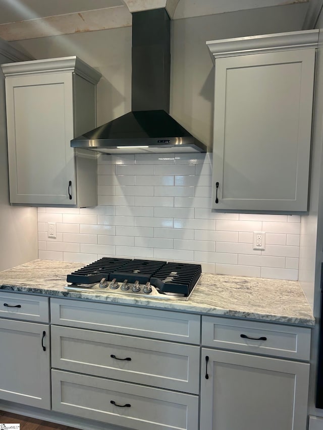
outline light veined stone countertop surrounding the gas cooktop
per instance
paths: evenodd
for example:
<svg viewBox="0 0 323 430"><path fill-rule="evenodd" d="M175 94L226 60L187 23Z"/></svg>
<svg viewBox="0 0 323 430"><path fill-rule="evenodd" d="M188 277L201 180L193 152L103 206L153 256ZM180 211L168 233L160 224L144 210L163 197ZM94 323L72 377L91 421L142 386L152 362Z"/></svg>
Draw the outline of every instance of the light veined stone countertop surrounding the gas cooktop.
<svg viewBox="0 0 323 430"><path fill-rule="evenodd" d="M0 272L0 289L146 306L149 308L313 326L314 317L297 281L203 273L188 301L138 298L105 291L64 289L66 276L85 264L34 260Z"/></svg>

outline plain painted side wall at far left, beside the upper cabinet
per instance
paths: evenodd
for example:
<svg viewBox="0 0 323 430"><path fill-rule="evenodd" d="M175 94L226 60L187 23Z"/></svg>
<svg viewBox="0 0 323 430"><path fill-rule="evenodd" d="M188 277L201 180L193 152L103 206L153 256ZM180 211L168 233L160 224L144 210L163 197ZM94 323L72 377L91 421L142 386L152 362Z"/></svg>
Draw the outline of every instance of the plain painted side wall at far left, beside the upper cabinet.
<svg viewBox="0 0 323 430"><path fill-rule="evenodd" d="M0 64L10 63L0 54ZM0 270L38 257L37 210L9 205L5 78L0 69Z"/></svg>

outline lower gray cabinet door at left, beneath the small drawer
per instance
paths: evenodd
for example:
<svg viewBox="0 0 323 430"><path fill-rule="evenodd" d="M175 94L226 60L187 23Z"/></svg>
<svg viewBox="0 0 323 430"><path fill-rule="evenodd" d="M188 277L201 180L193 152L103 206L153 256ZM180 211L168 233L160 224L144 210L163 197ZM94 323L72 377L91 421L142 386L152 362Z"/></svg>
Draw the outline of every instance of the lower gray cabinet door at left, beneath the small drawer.
<svg viewBox="0 0 323 430"><path fill-rule="evenodd" d="M50 409L48 326L0 320L0 345L0 398Z"/></svg>

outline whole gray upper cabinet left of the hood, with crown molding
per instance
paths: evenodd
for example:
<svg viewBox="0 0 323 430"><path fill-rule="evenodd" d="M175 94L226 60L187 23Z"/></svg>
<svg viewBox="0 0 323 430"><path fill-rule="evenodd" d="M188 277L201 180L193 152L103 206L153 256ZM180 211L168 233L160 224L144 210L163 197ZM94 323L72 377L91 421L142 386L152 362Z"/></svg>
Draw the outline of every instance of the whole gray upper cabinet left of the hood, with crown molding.
<svg viewBox="0 0 323 430"><path fill-rule="evenodd" d="M76 56L2 65L10 202L95 206L96 155L70 141L96 125L100 74Z"/></svg>

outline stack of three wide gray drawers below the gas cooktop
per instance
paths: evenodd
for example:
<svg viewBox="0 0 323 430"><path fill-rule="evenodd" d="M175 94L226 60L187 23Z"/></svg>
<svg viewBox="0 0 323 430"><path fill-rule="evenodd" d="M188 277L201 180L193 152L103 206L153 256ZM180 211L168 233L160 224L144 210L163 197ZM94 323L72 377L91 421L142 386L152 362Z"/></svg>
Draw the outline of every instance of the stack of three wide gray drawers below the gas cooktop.
<svg viewBox="0 0 323 430"><path fill-rule="evenodd" d="M134 430L197 430L200 317L138 311L51 300L52 409Z"/></svg>

